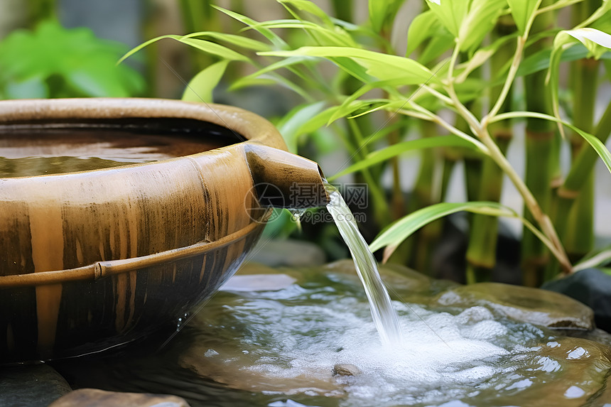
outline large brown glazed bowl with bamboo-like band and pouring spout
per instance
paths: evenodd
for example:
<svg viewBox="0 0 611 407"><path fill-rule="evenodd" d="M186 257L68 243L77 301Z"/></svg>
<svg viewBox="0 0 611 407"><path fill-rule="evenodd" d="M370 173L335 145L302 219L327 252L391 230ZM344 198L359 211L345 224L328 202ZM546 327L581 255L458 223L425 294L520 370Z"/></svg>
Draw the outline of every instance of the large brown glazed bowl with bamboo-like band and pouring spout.
<svg viewBox="0 0 611 407"><path fill-rule="evenodd" d="M318 165L283 151L274 126L242 109L0 102L0 157L141 151L145 133L195 147L183 155L166 142L175 158L0 178L0 362L97 352L175 326L237 270L269 206L328 201ZM300 186L308 199L293 196Z"/></svg>

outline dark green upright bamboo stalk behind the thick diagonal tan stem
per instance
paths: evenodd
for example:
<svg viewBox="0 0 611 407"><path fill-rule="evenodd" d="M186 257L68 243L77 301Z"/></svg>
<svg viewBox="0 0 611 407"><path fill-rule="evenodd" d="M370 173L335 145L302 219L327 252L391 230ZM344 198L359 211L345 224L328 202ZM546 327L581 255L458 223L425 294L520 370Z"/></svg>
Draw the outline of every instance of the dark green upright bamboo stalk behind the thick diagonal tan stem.
<svg viewBox="0 0 611 407"><path fill-rule="evenodd" d="M551 1L544 1L547 6ZM552 26L553 13L545 13L534 21L531 35L544 31ZM528 48L528 55L544 48L551 48L551 38L544 38ZM536 72L524 77L526 109L553 115L549 92L545 86L546 72ZM553 156L556 126L542 119L526 121L526 186L531 190L543 212L551 210L551 183L554 176L556 159ZM534 216L524 207L524 217L534 222ZM543 243L529 229L524 227L521 244L522 283L525 286L537 287L544 281L545 267L549 253Z"/></svg>

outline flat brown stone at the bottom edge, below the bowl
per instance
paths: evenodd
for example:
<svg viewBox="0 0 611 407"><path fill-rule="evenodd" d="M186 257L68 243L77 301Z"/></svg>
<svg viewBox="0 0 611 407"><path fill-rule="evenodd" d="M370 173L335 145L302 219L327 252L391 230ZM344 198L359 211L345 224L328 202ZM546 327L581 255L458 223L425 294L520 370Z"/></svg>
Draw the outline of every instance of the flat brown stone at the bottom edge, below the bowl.
<svg viewBox="0 0 611 407"><path fill-rule="evenodd" d="M49 407L189 407L178 396L145 393L118 393L99 389L79 389L66 394Z"/></svg>

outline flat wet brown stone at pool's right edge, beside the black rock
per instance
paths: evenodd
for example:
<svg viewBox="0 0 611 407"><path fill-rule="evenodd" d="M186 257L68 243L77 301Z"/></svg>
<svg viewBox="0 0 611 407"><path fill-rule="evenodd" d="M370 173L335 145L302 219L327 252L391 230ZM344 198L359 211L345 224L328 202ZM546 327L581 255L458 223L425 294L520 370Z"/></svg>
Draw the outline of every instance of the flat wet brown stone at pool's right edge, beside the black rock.
<svg viewBox="0 0 611 407"><path fill-rule="evenodd" d="M436 302L461 308L484 305L504 317L544 327L594 328L594 314L588 306L566 295L538 288L477 283L445 291L438 295Z"/></svg>

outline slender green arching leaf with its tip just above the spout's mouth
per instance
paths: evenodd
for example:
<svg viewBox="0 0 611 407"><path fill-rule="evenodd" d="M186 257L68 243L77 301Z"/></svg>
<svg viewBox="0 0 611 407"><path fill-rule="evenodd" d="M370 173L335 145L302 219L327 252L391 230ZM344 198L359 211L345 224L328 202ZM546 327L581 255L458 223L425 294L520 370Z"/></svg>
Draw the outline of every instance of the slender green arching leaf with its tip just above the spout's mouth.
<svg viewBox="0 0 611 407"><path fill-rule="evenodd" d="M406 153L407 151L422 150L423 148L433 147L464 147L477 150L476 146L474 146L472 143L469 143L468 141L453 135L428 137L426 139L404 141L402 143L396 143L392 146L382 148L382 150L369 153L367 157L363 158L362 160L353 165L350 165L350 167L340 171L339 173L333 175L328 179L332 181L336 178L340 178L342 175L355 173L364 168L369 168L372 165L387 161L389 160L389 158L399 156L400 154Z"/></svg>

